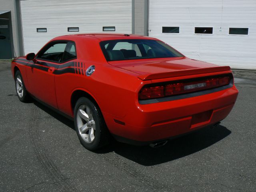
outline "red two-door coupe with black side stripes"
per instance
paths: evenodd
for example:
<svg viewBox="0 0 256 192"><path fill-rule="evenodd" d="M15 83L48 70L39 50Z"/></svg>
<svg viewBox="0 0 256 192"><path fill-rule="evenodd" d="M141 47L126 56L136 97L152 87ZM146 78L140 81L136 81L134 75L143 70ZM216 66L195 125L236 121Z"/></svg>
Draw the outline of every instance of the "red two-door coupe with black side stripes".
<svg viewBox="0 0 256 192"><path fill-rule="evenodd" d="M82 145L110 135L131 144L219 124L238 90L230 67L189 59L164 42L128 34L56 37L12 62L20 101L29 96L74 120Z"/></svg>

